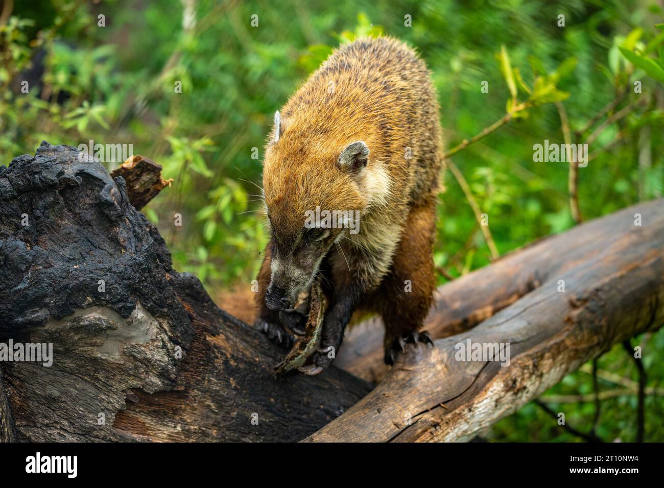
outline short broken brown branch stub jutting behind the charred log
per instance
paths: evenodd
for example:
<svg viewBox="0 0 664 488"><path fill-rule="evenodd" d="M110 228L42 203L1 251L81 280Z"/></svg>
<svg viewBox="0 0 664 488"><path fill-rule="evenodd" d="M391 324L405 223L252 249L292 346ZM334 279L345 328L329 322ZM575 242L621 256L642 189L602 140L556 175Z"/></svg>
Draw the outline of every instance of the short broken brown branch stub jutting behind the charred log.
<svg viewBox="0 0 664 488"><path fill-rule="evenodd" d="M131 156L114 169L111 176L124 178L129 202L137 210L147 205L162 189L171 186L173 181L161 177L161 165L141 155Z"/></svg>

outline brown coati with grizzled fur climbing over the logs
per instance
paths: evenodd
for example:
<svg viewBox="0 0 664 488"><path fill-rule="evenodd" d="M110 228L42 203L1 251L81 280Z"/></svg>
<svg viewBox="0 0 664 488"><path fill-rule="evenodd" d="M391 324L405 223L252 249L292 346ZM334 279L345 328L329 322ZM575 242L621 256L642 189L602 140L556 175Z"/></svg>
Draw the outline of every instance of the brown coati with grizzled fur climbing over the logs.
<svg viewBox="0 0 664 488"><path fill-rule="evenodd" d="M256 326L290 347L284 322L320 277L329 305L308 374L331 364L357 309L382 316L388 364L406 342L430 342L418 330L436 284L442 163L430 73L390 37L340 46L276 112L264 155L272 238L258 274ZM305 226L317 207L359 212L359 232Z"/></svg>

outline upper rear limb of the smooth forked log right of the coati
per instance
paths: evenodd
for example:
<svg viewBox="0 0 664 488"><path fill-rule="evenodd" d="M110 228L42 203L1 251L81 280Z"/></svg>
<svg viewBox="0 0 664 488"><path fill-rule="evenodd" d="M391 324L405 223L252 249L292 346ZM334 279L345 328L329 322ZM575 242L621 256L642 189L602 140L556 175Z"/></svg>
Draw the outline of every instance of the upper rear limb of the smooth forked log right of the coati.
<svg viewBox="0 0 664 488"><path fill-rule="evenodd" d="M649 220L643 220L643 226L635 226L635 214L645 218L644 208ZM653 226L656 230L662 214L662 200L635 205L505 254L491 266L439 287L425 329L436 339L467 331L544 283L555 282L569 270L598 258L609 244L627 242ZM640 244L661 249L663 237L655 234L651 242ZM388 370L382 361L382 333L380 319L369 319L353 327L335 365L369 381L379 381Z"/></svg>

